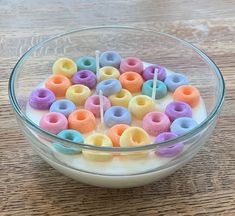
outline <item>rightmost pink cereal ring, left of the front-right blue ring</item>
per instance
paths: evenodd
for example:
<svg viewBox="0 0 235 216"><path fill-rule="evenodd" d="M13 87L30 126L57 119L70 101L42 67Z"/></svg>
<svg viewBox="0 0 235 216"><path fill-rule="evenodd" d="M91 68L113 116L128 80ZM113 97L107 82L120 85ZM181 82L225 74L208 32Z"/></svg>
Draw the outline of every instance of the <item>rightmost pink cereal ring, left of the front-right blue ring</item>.
<svg viewBox="0 0 235 216"><path fill-rule="evenodd" d="M151 136L169 131L171 122L165 113L150 112L143 118L143 129Z"/></svg>

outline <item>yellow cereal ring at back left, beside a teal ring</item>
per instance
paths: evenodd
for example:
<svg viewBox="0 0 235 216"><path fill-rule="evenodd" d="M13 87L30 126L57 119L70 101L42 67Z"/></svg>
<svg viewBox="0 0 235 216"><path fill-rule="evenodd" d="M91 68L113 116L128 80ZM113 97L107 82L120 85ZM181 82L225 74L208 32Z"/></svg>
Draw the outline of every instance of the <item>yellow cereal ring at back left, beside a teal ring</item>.
<svg viewBox="0 0 235 216"><path fill-rule="evenodd" d="M76 63L70 58L59 58L52 67L53 74L61 74L69 79L77 72Z"/></svg>

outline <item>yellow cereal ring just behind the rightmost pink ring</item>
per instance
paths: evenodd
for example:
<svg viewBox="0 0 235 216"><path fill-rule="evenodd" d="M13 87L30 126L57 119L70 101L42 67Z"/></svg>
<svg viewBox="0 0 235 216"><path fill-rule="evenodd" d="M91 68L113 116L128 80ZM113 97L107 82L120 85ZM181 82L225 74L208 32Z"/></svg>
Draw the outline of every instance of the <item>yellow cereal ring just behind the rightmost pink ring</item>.
<svg viewBox="0 0 235 216"><path fill-rule="evenodd" d="M135 118L142 120L147 113L154 111L155 102L146 95L137 95L130 100L128 109Z"/></svg>

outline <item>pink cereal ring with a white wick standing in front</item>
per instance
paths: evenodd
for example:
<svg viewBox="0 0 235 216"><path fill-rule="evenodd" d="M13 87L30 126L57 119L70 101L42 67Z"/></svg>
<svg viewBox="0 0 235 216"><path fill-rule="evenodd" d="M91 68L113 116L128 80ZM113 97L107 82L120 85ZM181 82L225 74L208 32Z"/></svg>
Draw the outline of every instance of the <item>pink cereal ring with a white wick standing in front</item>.
<svg viewBox="0 0 235 216"><path fill-rule="evenodd" d="M103 96L104 112L111 107L109 99ZM99 95L93 95L87 98L85 102L85 109L91 111L95 117L100 117L100 98Z"/></svg>

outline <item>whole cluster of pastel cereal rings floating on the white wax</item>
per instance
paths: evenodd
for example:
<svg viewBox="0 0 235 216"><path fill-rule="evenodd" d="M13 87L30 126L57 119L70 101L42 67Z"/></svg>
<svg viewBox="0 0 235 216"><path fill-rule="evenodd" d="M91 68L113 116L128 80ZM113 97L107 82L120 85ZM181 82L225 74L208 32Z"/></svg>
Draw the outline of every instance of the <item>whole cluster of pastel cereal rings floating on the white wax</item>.
<svg viewBox="0 0 235 216"><path fill-rule="evenodd" d="M158 64L105 51L96 58L59 58L52 73L31 92L28 104L31 110L43 112L39 121L43 130L67 141L136 147L175 139L198 125L194 119L194 108L201 100L198 89L185 75ZM123 155L69 147L63 142L52 146L61 154L79 154L93 161ZM183 143L158 147L155 157L173 157L183 148Z"/></svg>

